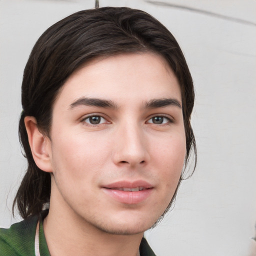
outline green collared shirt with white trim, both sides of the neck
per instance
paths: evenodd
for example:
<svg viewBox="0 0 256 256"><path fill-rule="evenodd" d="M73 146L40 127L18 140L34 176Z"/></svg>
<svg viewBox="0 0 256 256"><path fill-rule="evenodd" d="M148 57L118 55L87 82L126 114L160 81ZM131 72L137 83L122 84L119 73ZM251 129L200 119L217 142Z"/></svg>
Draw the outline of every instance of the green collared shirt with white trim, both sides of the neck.
<svg viewBox="0 0 256 256"><path fill-rule="evenodd" d="M47 215L42 211L39 215L38 232L36 226L38 216L29 216L26 219L12 224L9 228L0 228L0 255L1 256L50 256L43 232L42 220ZM35 242L38 234L38 242ZM35 253L38 245L39 253ZM155 256L145 238L139 245L140 256Z"/></svg>

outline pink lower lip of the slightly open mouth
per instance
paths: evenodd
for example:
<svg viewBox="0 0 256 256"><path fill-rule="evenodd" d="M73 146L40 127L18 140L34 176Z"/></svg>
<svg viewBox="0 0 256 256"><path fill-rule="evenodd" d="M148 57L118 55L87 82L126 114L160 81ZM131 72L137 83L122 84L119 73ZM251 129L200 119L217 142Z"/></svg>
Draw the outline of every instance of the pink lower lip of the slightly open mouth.
<svg viewBox="0 0 256 256"><path fill-rule="evenodd" d="M110 195L114 200L125 204L137 204L149 197L152 188L140 191L122 191L117 189L103 188L103 191Z"/></svg>

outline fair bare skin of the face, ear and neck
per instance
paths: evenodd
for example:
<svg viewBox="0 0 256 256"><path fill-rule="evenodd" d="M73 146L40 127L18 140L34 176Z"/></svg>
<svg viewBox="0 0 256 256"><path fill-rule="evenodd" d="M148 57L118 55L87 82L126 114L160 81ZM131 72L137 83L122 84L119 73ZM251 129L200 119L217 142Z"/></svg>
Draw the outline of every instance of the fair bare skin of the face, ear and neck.
<svg viewBox="0 0 256 256"><path fill-rule="evenodd" d="M162 57L119 54L94 59L67 79L53 104L50 138L25 117L34 160L51 172L43 223L51 255L137 254L143 232L173 196L185 157L181 107L148 106L166 98L181 106L178 81ZM150 192L120 202L105 187L123 180L145 181Z"/></svg>

